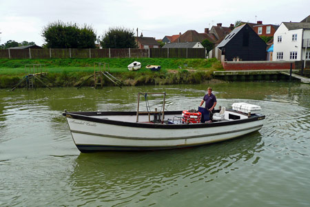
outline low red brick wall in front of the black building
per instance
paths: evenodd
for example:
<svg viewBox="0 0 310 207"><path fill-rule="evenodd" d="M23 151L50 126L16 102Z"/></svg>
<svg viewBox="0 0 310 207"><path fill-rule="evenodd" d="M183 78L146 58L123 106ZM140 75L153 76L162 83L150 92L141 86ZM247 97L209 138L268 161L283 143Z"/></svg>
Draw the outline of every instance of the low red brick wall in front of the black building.
<svg viewBox="0 0 310 207"><path fill-rule="evenodd" d="M225 70L289 70L295 69L293 61L225 61Z"/></svg>

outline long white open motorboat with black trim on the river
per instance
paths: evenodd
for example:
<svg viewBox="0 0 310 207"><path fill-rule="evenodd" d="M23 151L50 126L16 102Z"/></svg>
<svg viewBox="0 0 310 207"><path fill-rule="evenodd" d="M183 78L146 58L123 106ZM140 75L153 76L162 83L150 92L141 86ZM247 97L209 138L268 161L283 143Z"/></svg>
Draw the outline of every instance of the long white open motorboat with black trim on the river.
<svg viewBox="0 0 310 207"><path fill-rule="evenodd" d="M139 110L141 96L163 95L161 110ZM165 92L138 93L137 111L68 112L66 117L74 144L81 152L105 150L162 150L200 146L233 139L260 130L265 115L260 106L234 103L216 110L213 121L205 108L165 111ZM185 120L185 114L198 122ZM198 115L202 117L198 117ZM218 117L218 118L216 118ZM215 119L216 118L216 119ZM187 119L188 120L188 119Z"/></svg>

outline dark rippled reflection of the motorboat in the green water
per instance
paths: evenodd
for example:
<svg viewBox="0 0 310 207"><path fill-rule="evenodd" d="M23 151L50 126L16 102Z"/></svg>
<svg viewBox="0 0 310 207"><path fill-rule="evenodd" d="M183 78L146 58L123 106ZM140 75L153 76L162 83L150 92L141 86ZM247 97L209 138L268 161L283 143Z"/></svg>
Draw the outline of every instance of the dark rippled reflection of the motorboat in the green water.
<svg viewBox="0 0 310 207"><path fill-rule="evenodd" d="M81 153L70 177L74 183L72 190L80 193L72 194L81 198L92 194L96 201L106 202L108 206L141 206L153 204L152 201L165 204L158 198L174 199L174 195L177 200L173 204L178 204L178 196L185 194L183 189L193 191L194 188L195 192L187 192L193 201L205 185L209 185L210 191L215 188L221 175L226 177L231 170L242 168L245 162L257 164L256 153L264 146L261 139L259 132L253 132L240 139L194 148ZM204 197L210 193L203 191L200 193L204 193ZM92 203L89 196L88 199Z"/></svg>

